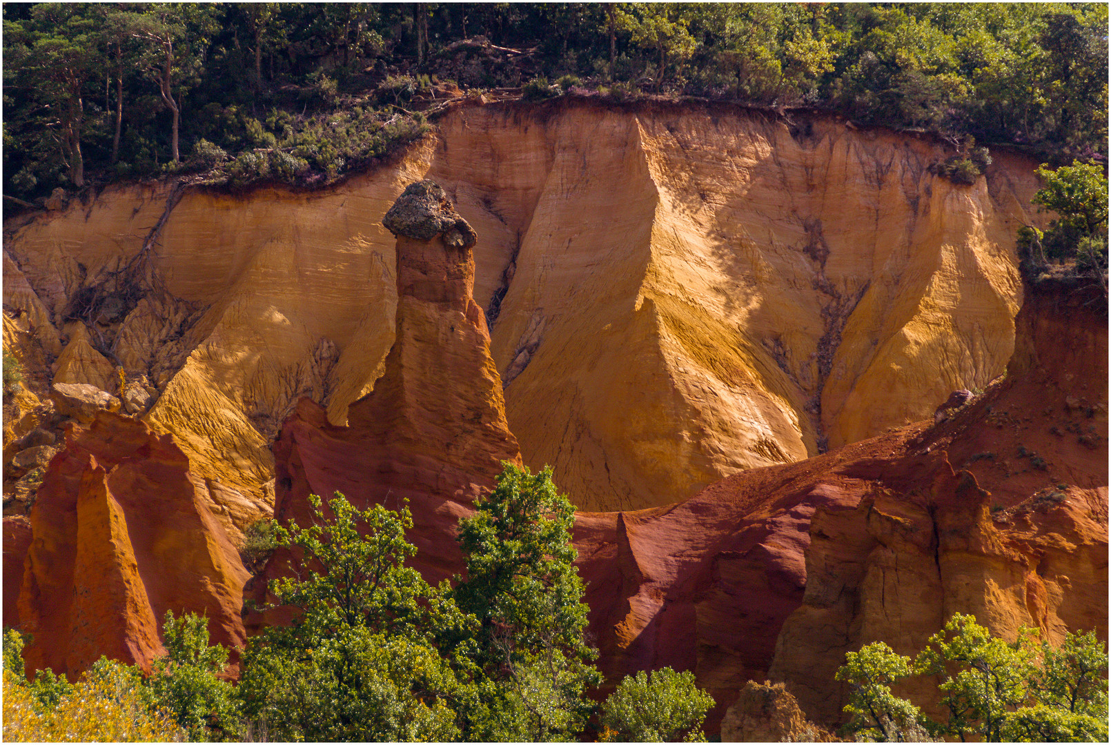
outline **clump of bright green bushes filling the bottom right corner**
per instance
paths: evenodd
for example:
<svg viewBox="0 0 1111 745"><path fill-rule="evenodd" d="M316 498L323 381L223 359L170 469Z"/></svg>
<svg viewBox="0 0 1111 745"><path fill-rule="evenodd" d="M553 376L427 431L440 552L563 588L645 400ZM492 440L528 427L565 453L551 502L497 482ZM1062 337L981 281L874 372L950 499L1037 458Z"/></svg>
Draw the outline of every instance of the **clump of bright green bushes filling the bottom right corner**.
<svg viewBox="0 0 1111 745"><path fill-rule="evenodd" d="M1059 648L1023 626L1014 642L992 636L971 615L953 614L911 661L883 642L845 655L844 733L868 742L911 742L922 733L981 742L1107 742L1108 657L1093 632L1067 634ZM912 675L940 679L944 722L934 722L891 686Z"/></svg>

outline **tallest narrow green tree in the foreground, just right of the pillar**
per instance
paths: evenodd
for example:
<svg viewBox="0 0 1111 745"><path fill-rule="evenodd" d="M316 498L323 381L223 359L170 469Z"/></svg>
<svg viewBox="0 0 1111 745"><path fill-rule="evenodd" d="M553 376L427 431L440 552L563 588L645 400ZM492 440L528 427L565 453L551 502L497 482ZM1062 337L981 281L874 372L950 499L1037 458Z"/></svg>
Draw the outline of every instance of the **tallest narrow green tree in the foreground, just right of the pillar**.
<svg viewBox="0 0 1111 745"><path fill-rule="evenodd" d="M574 509L556 491L551 469L533 474L503 463L494 491L460 521L466 578L452 593L478 618L474 661L494 708L512 716L479 717L482 739L573 737L601 681L585 642L583 587L570 545Z"/></svg>

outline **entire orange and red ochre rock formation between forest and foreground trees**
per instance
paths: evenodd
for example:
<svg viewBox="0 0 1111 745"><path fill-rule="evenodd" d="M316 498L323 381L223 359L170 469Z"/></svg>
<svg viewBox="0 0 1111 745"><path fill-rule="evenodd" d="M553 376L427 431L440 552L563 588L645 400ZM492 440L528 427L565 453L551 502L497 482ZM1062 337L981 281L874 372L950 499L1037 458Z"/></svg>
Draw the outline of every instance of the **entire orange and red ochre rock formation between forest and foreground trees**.
<svg viewBox="0 0 1111 745"><path fill-rule="evenodd" d="M578 513L591 633L609 685L693 670L719 704L710 734L768 677L834 724L845 651L911 654L957 611L1004 635L1107 638L1107 319L1082 288L1019 283L1029 164L1004 155L965 188L929 174L932 145L829 121L551 113L466 109L434 148L334 193L182 199L150 256L168 294L96 320L180 449L101 413L51 462L30 526L6 519L6 577L23 576L6 616L54 635L29 666L147 662L167 608L241 643L246 573L224 534L264 512L263 433L301 395L321 403L301 399L273 444L276 515L304 521L309 493L409 500L431 581L462 568L458 520L502 460L554 462L580 506L662 505ZM447 193L414 184L388 217L427 173ZM163 209L132 213L122 193L6 241L6 305L43 354L67 342L72 380L104 370L89 330L61 323L77 262L106 276L130 255L123 239L71 249L74 231L114 236ZM987 392L883 431L961 385ZM819 432L880 434L803 460ZM262 601L289 558L247 594Z"/></svg>

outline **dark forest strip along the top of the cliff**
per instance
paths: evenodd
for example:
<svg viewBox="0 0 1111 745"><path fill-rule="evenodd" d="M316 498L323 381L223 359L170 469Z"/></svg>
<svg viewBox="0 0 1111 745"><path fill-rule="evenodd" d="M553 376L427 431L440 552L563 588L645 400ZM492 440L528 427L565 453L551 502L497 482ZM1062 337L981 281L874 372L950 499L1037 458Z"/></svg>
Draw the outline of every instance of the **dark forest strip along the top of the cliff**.
<svg viewBox="0 0 1111 745"><path fill-rule="evenodd" d="M8 202L182 170L328 183L464 90L813 107L1105 161L1105 4L8 3ZM557 80L549 85L547 80ZM442 81L433 87L433 81ZM437 90L439 92L437 92ZM458 93L456 93L458 94ZM971 153L941 168L974 178Z"/></svg>

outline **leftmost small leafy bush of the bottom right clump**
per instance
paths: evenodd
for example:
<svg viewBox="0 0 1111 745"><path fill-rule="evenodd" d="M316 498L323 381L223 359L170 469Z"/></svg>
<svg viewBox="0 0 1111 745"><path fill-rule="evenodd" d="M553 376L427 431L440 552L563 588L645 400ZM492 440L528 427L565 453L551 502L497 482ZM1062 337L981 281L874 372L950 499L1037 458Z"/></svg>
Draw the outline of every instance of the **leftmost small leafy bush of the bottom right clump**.
<svg viewBox="0 0 1111 745"><path fill-rule="evenodd" d="M914 731L915 725L924 727L922 712L891 693L891 686L911 672L910 657L895 654L883 642L845 654L845 663L835 675L849 684L844 711L850 718L844 732L868 742L904 742L903 733Z"/></svg>

